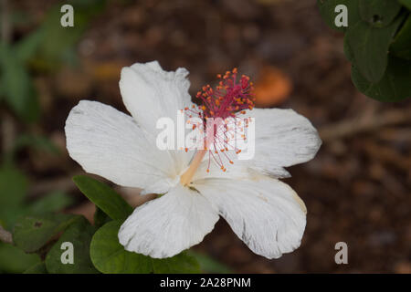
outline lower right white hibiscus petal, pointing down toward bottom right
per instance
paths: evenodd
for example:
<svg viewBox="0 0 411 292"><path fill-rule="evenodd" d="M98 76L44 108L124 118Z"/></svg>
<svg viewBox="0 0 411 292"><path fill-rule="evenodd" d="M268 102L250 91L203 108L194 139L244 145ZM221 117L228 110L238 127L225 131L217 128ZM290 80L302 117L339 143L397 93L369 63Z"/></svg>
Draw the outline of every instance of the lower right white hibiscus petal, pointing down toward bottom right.
<svg viewBox="0 0 411 292"><path fill-rule="evenodd" d="M300 246L306 210L289 185L266 176L255 181L211 179L193 186L254 253L278 258Z"/></svg>

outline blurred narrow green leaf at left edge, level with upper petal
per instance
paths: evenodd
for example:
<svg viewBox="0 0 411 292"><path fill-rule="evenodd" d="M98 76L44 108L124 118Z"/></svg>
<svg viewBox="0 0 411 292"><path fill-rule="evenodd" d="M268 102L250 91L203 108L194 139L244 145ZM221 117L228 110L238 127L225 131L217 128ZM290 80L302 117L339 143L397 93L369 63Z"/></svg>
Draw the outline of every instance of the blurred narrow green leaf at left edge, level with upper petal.
<svg viewBox="0 0 411 292"><path fill-rule="evenodd" d="M0 69L5 101L27 122L39 115L37 93L24 63L11 47L0 44Z"/></svg>

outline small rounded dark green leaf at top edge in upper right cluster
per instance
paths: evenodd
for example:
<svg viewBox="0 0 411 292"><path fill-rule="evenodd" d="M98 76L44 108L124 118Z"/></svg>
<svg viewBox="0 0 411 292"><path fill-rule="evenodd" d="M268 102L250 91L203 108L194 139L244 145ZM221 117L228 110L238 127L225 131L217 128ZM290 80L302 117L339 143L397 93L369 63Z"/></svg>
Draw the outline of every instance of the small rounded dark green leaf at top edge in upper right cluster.
<svg viewBox="0 0 411 292"><path fill-rule="evenodd" d="M360 16L374 27L391 24L401 10L401 5L393 0L359 0Z"/></svg>

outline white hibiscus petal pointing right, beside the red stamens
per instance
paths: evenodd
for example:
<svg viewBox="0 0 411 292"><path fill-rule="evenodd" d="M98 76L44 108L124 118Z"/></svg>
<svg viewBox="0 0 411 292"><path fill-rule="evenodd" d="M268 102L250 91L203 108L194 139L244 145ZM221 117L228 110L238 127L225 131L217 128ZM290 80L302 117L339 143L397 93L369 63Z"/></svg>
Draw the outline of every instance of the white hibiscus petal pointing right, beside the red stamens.
<svg viewBox="0 0 411 292"><path fill-rule="evenodd" d="M253 117L255 123L255 154L249 160L238 160L235 151L225 151L219 155L227 172L208 154L195 172L194 180L209 178L244 179L257 175L256 172L269 174L275 178L290 177L283 167L310 161L321 146L321 139L310 120L293 110L254 109L248 110L244 117ZM252 144L252 143L251 143ZM246 150L248 151L248 150ZM229 158L225 156L228 155ZM220 159L217 158L220 162ZM229 160L234 164L230 164ZM210 172L206 172L209 168Z"/></svg>

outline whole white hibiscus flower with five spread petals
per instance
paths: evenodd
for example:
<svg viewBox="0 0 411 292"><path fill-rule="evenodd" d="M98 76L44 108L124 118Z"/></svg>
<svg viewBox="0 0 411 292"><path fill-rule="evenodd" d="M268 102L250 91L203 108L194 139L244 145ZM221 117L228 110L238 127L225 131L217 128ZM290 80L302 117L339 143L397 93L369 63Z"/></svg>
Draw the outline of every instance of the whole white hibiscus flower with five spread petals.
<svg viewBox="0 0 411 292"><path fill-rule="evenodd" d="M157 62L122 68L121 96L132 116L89 100L68 115L68 152L86 172L163 194L122 224L121 245L155 258L177 255L200 243L222 216L254 253L268 258L290 253L300 246L306 209L278 179L290 176L283 167L314 157L321 145L317 130L293 110L246 110L255 118L252 160L209 166L205 151L160 151L157 120L175 119L177 110L194 106L187 75L184 68L163 71ZM212 111L201 108L203 117Z"/></svg>

